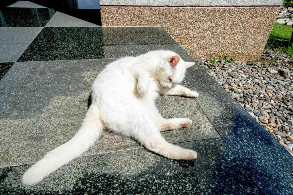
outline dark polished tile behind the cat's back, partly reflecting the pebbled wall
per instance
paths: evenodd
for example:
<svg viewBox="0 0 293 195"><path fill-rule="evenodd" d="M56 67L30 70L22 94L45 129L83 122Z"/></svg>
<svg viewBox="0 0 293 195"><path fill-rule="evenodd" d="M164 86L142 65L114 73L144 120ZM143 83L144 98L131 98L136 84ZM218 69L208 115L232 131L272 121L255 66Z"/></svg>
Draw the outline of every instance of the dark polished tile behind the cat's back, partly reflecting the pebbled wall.
<svg viewBox="0 0 293 195"><path fill-rule="evenodd" d="M161 27L45 27L18 61L119 58L174 43Z"/></svg>

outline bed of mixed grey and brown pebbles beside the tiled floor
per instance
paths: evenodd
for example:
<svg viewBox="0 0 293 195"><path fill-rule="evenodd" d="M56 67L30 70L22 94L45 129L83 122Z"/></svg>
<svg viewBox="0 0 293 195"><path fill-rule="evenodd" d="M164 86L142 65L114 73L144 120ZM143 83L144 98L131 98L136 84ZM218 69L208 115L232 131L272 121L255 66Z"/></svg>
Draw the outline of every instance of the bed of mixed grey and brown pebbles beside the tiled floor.
<svg viewBox="0 0 293 195"><path fill-rule="evenodd" d="M257 61L198 63L293 156L293 59L266 49Z"/></svg>

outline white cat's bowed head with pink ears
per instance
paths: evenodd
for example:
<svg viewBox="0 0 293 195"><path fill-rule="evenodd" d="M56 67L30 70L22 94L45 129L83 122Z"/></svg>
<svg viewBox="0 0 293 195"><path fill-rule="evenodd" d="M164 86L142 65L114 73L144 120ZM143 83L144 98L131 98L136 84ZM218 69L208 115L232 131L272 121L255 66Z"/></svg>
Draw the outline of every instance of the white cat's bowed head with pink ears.
<svg viewBox="0 0 293 195"><path fill-rule="evenodd" d="M173 51L159 51L156 79L162 87L171 88L174 84L182 82L185 70L193 66L194 62L185 62Z"/></svg>

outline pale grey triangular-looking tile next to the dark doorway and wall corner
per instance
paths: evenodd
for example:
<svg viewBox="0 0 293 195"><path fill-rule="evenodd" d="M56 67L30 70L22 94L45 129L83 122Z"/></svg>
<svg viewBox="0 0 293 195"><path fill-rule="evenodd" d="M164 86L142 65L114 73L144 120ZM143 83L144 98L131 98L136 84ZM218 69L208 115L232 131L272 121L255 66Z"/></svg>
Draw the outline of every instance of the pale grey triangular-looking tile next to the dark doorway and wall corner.
<svg viewBox="0 0 293 195"><path fill-rule="evenodd" d="M99 25L57 11L45 27L99 27Z"/></svg>

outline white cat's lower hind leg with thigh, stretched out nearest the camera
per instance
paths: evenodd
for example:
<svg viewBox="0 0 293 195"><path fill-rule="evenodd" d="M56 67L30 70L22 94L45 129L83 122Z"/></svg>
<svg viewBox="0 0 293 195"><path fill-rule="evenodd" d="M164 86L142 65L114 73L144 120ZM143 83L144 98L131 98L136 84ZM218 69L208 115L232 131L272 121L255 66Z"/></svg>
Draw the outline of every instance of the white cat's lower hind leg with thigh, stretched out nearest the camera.
<svg viewBox="0 0 293 195"><path fill-rule="evenodd" d="M142 107L133 104L135 104L135 102L123 105L123 109L131 113L131 117L129 117L129 115L123 117L123 115L118 114L120 112L117 112L117 117L113 117L113 113L111 113L109 117L106 117L103 120L108 124L115 124L109 124L113 127L115 132L126 137L132 137L146 149L159 155L177 160L193 160L197 157L197 153L193 150L183 149L179 146L168 143L162 137L161 132L150 113L146 112ZM120 110L117 106L115 109L115 112L117 109Z"/></svg>

